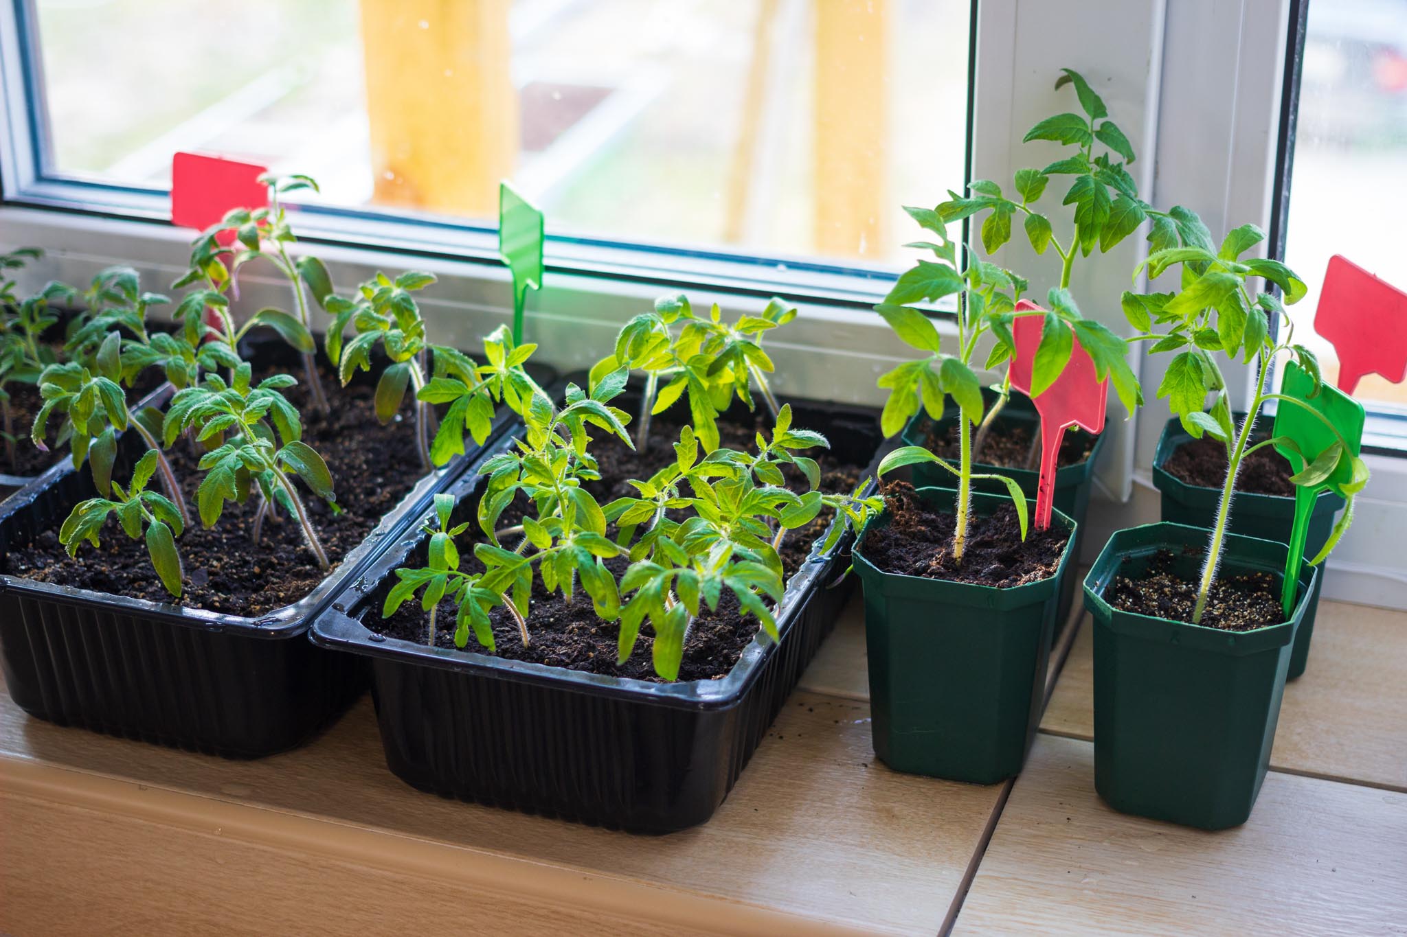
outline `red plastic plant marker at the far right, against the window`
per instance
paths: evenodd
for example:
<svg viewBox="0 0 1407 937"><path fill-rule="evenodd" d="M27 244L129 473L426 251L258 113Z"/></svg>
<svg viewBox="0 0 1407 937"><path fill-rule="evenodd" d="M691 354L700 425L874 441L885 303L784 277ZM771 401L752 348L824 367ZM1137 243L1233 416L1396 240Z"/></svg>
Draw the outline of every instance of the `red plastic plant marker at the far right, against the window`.
<svg viewBox="0 0 1407 937"><path fill-rule="evenodd" d="M1393 384L1407 376L1407 294L1339 254L1328 258L1314 330L1338 353L1344 393L1365 374Z"/></svg>

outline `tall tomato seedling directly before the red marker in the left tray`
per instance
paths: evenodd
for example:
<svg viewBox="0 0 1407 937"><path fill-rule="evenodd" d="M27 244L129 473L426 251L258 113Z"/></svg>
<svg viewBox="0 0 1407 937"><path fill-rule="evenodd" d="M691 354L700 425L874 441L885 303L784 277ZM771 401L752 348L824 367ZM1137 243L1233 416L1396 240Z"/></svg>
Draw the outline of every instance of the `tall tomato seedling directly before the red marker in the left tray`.
<svg viewBox="0 0 1407 937"><path fill-rule="evenodd" d="M317 257L303 257L294 261L288 244L297 239L288 222L287 207L281 197L287 192L311 188L318 184L307 176L263 176L260 181L269 187L270 202L262 208L232 209L210 230L203 232L193 243L189 270L173 284L177 289L200 284L203 289L186 296L186 302L204 301L217 315L219 326L211 325L211 337L231 344L238 351L238 340L255 326L269 326L284 341L303 355L303 379L314 410L331 412L322 379L318 375L315 358L317 346L312 340L311 316L308 313L307 289L319 303L332 292L332 280L326 267ZM224 246L219 236L235 235L235 246ZM229 317L227 294L238 295L238 277L245 264L266 260L288 280L293 288L294 312L266 306L250 316L238 332ZM222 301L222 302L221 302Z"/></svg>

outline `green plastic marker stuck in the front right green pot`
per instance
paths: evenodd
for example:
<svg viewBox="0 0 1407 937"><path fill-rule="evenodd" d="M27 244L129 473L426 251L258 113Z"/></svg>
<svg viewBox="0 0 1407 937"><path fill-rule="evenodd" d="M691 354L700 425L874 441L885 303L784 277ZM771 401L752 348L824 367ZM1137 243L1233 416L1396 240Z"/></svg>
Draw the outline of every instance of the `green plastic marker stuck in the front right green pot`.
<svg viewBox="0 0 1407 937"><path fill-rule="evenodd" d="M1289 461L1296 473L1304 471L1306 459L1313 461L1314 457L1338 443L1339 435L1348 443L1349 450L1339 455L1338 465L1323 483L1294 486L1294 525L1290 528L1290 552L1285 563L1285 582L1280 593L1280 603L1285 614L1289 615L1294 610L1294 586L1300 580L1300 566L1304 563L1304 539L1309 532L1310 514L1314 511L1314 499L1325 487L1345 494L1342 485L1354 480L1351 457L1356 457L1362 447L1363 405L1327 384L1320 385L1318 393L1314 393L1314 378L1293 361L1285 365L1280 393L1303 400L1331 424L1325 426L1324 420L1303 407L1280 400L1275 410L1273 435L1294 440L1299 451L1280 443L1276 443L1275 448ZM1335 428L1338 434L1334 433Z"/></svg>

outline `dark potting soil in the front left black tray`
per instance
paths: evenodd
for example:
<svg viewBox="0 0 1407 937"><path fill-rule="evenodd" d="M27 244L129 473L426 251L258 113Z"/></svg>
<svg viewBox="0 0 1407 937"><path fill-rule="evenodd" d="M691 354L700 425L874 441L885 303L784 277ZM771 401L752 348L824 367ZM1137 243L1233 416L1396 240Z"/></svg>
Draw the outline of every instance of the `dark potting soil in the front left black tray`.
<svg viewBox="0 0 1407 937"><path fill-rule="evenodd" d="M415 486L424 471L415 457L409 398L398 417L381 426L374 413L374 385L339 388L336 376L325 368L322 384L332 403L326 417L305 405L301 385L286 393L303 412L304 441L326 459L332 472L342 513L333 513L305 489L301 493L322 549L336 566ZM167 458L186 492L193 520L177 541L186 582L180 604L253 617L298 601L328 575L318 569L298 523L281 513L279 523L266 520L260 542L252 542L257 499L243 506L227 503L215 527L204 530L196 514L196 489L201 480L196 468L198 455L189 443L177 440L167 450ZM298 485L301 487L301 482ZM160 490L159 480L153 478L151 487ZM73 559L59 544L58 530L63 520L55 518L53 527L39 532L31 544L11 545L4 572L134 598L173 601L152 570L145 544L129 539L115 517L103 528L101 546L94 549L84 544Z"/></svg>

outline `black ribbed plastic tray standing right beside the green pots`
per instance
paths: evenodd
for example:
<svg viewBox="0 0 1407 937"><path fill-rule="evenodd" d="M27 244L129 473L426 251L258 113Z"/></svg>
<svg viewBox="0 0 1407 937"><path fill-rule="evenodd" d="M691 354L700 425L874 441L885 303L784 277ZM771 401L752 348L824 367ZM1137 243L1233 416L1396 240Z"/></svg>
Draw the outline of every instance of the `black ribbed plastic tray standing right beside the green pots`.
<svg viewBox="0 0 1407 937"><path fill-rule="evenodd" d="M875 412L791 403L795 426L826 433L834 451L868 462L874 475L882 447ZM470 472L450 486L469 499L459 510L473 506L483 483ZM373 634L360 620L378 612L391 570L414 551L424 556L424 534L411 530L310 632L324 648L370 657L391 771L442 797L633 833L712 816L854 586L853 577L834 584L848 565L848 538L827 555L813 549L777 610L779 645L758 632L726 677L658 684Z"/></svg>

